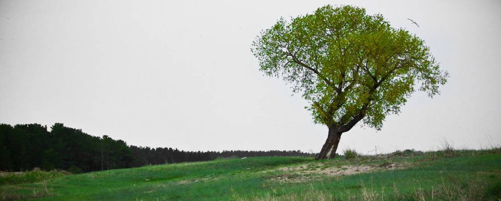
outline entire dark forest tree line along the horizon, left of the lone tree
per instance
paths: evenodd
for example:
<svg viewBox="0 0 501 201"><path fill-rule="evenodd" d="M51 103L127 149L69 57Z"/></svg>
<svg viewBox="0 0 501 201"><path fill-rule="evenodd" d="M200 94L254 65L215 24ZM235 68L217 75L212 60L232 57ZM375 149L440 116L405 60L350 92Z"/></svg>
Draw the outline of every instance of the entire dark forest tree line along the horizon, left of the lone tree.
<svg viewBox="0 0 501 201"><path fill-rule="evenodd" d="M89 172L144 165L207 161L253 156L309 156L301 151L183 151L173 148L128 146L109 136L92 136L81 129L56 123L0 124L0 170L23 171L39 167Z"/></svg>

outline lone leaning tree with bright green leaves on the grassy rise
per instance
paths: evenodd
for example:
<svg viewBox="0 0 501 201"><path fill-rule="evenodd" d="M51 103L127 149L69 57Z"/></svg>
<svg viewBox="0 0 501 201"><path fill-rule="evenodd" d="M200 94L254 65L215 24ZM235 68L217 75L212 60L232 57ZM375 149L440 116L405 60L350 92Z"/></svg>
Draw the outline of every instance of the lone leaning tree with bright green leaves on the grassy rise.
<svg viewBox="0 0 501 201"><path fill-rule="evenodd" d="M328 127L317 159L334 157L341 135L358 122L380 130L416 85L432 97L448 77L423 40L352 6L281 18L252 46L260 70L292 84L311 104L314 122Z"/></svg>

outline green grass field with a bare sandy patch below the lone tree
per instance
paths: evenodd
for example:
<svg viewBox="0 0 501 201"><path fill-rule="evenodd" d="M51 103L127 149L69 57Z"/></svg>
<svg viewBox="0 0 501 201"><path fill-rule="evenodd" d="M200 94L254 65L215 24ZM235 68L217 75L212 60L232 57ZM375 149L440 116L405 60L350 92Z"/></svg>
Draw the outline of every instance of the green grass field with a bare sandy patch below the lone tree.
<svg viewBox="0 0 501 201"><path fill-rule="evenodd" d="M66 175L2 173L1 199L501 200L501 150L256 157ZM14 174L14 175L13 175ZM33 176L39 175L39 176Z"/></svg>

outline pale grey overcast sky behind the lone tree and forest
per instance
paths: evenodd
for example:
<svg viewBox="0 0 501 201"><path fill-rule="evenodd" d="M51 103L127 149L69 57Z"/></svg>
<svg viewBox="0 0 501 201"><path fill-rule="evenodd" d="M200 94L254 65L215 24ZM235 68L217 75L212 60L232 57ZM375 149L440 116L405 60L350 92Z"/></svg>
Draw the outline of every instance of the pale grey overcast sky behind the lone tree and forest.
<svg viewBox="0 0 501 201"><path fill-rule="evenodd" d="M0 0L0 123L189 151L319 152L327 127L250 48L280 17L328 4L382 14L450 73L441 95L417 91L380 131L343 134L339 153L501 144L500 1Z"/></svg>

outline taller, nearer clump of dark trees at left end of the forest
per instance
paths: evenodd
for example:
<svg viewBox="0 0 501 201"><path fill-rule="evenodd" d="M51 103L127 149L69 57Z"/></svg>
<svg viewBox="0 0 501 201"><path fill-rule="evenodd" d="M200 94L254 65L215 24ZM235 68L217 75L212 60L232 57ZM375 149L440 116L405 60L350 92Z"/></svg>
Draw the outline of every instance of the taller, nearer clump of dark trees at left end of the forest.
<svg viewBox="0 0 501 201"><path fill-rule="evenodd" d="M0 124L0 170L69 169L88 172L131 166L132 154L122 140L96 137L56 123Z"/></svg>

